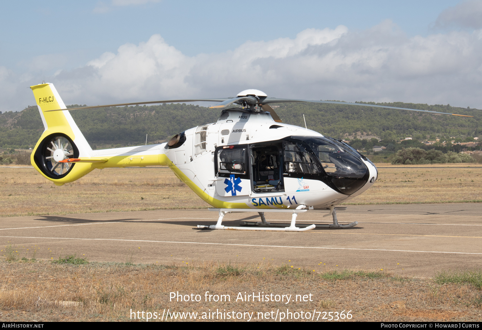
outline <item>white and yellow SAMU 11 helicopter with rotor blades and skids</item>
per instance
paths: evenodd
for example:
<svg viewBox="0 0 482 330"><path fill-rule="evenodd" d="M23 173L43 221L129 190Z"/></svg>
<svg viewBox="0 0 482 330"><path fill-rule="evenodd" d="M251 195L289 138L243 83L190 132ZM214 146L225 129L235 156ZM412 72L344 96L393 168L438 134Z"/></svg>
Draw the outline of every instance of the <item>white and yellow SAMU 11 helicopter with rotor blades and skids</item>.
<svg viewBox="0 0 482 330"><path fill-rule="evenodd" d="M458 115L363 103L274 98L256 89L227 98L67 109L52 83L42 82L30 88L45 127L32 151L31 164L43 177L60 186L96 168L169 166L177 178L214 207L209 210L219 213L215 225L198 225L199 229L304 232L358 224L338 223L336 210L346 207L337 205L375 183L375 165L343 140L282 123L270 104L315 102ZM221 110L216 123L187 129L161 144L103 150L92 150L69 113L77 109L202 101L216 102L209 107ZM299 213L315 209L329 210L323 217L331 215L333 223L296 226ZM222 225L230 212L257 212L261 221L245 221L238 227ZM290 225L266 221L265 213L270 212L291 213Z"/></svg>

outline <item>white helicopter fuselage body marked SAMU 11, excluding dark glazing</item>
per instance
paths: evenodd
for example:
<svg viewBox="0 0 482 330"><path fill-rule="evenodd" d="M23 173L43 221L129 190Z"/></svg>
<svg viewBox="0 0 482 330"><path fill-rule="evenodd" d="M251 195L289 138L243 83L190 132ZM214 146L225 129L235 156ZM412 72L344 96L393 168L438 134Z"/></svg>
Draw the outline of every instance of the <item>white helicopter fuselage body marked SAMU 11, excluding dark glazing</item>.
<svg viewBox="0 0 482 330"><path fill-rule="evenodd" d="M372 179L364 181L364 184L351 194L340 193L322 180L313 179L313 175L310 176L309 173L297 173L298 175L293 177L294 173L289 172L292 169L287 169L286 166L283 168L283 164L280 164L286 161L286 156L283 157L284 151L281 148L276 151L275 146L282 147L281 144L286 143L282 141L287 137L323 138L323 135L303 127L276 123L268 112L225 111L216 123L190 128L182 135L184 141L181 140L181 143L177 143L173 148L162 143L106 149L92 151L90 157L122 155L126 159L126 166L135 166L136 163L137 166L143 166L141 158L164 154L169 160L166 165L169 165L176 176L203 200L218 208L276 209L296 208L301 205L310 209L324 208L359 195L377 178L375 166L361 156L359 161L368 170L365 177ZM278 164L271 164L268 170L261 169L260 172L266 174L264 177L268 177L268 180L265 180L267 182L264 184L256 184L253 172L256 171L256 161L263 158L261 154L261 157L256 159L256 150L259 154L260 148L262 151L267 143L271 150L275 150L271 153L279 153ZM237 161L234 165L239 167L237 169L221 169L220 153L236 150L246 153L244 163ZM276 160L276 157L273 159ZM98 167L102 165L99 164ZM270 184L277 180L282 181L282 185L276 187Z"/></svg>

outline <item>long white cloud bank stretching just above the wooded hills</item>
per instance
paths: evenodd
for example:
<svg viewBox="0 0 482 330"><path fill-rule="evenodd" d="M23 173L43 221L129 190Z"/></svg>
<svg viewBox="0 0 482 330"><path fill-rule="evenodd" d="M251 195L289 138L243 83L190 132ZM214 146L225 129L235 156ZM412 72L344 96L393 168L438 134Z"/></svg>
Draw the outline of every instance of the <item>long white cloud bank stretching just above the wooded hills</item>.
<svg viewBox="0 0 482 330"><path fill-rule="evenodd" d="M187 56L153 35L82 68L57 71L50 82L67 104L224 97L256 88L281 98L450 103L482 109L481 36L476 30L407 38L384 21L364 31L344 26L306 29L294 39L246 41L233 51ZM12 73L7 75L12 83ZM6 82L2 77L0 87ZM7 96L3 108L18 104L14 94Z"/></svg>

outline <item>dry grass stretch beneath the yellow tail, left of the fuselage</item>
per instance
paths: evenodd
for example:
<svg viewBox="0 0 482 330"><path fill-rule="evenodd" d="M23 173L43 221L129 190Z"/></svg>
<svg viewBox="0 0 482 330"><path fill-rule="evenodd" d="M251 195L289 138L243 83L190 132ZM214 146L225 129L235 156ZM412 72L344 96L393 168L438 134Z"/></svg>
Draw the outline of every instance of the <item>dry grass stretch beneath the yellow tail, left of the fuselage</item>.
<svg viewBox="0 0 482 330"><path fill-rule="evenodd" d="M0 166L0 217L206 208L168 167L106 168L56 186L30 167Z"/></svg>

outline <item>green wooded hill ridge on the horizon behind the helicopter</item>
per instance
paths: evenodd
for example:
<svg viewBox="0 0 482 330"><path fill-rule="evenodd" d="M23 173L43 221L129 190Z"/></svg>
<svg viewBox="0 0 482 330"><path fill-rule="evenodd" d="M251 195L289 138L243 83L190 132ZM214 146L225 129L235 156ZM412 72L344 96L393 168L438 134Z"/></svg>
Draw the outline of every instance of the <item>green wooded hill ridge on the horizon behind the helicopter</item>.
<svg viewBox="0 0 482 330"><path fill-rule="evenodd" d="M404 137L413 137L415 140L450 137L465 139L482 134L479 128L482 127L481 110L402 102L376 104L474 117L316 103L286 103L275 110L283 123L298 126L305 125L304 114L308 128L334 138L358 137L392 141ZM148 143L159 142L190 127L215 122L219 111L186 104L162 104L75 110L71 114L85 138L93 147L100 148L144 144L146 134ZM31 148L42 131L43 125L36 106L0 114L2 149Z"/></svg>

